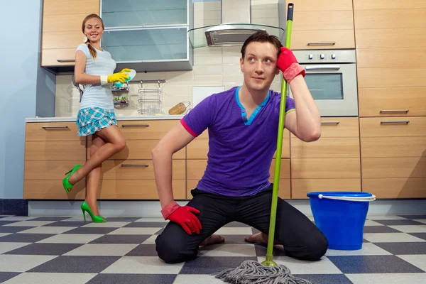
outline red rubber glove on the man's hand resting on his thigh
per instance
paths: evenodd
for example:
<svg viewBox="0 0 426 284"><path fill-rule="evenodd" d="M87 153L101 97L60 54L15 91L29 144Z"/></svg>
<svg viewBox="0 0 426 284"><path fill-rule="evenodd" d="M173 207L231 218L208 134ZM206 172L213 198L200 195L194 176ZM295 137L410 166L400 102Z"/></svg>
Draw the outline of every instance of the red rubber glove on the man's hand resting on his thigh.
<svg viewBox="0 0 426 284"><path fill-rule="evenodd" d="M198 214L200 211L194 207L180 206L175 201L165 205L163 210L161 210L161 214L163 214L165 220L180 224L187 234L190 235L193 232L200 234L200 229L202 229L200 220L194 213Z"/></svg>

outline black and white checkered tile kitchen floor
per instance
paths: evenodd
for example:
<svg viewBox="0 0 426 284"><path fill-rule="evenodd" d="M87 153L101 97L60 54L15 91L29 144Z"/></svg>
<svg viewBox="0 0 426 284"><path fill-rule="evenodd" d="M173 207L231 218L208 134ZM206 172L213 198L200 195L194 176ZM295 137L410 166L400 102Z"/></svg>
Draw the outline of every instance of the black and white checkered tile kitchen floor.
<svg viewBox="0 0 426 284"><path fill-rule="evenodd" d="M165 264L154 243L163 219L108 221L0 216L0 283L219 284L212 273L266 254L265 246L244 242L256 229L231 223L217 231L224 244L200 249L195 261ZM274 260L312 283L425 283L426 215L369 217L359 251L329 250L312 263L277 246Z"/></svg>

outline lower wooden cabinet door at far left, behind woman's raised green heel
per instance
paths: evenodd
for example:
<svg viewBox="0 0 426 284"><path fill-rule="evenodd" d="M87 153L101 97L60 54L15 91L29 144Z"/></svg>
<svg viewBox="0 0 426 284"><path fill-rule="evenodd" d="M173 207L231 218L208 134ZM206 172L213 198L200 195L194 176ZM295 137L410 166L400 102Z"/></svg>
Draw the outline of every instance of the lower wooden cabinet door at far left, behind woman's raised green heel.
<svg viewBox="0 0 426 284"><path fill-rule="evenodd" d="M86 160L86 138L77 136L74 122L26 124L23 198L29 200L84 200L86 179L67 194L65 173Z"/></svg>

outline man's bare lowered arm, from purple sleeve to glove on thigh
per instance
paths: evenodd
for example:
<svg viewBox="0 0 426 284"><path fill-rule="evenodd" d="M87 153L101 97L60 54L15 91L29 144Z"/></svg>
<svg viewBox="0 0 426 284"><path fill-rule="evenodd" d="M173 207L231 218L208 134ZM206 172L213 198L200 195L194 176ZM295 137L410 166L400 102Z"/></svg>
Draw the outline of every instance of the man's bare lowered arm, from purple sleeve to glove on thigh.
<svg viewBox="0 0 426 284"><path fill-rule="evenodd" d="M161 208L173 202L172 190L172 156L174 153L187 146L192 140L192 136L182 124L177 124L170 129L160 140L157 146L151 151L154 165L155 185L157 186L158 197Z"/></svg>

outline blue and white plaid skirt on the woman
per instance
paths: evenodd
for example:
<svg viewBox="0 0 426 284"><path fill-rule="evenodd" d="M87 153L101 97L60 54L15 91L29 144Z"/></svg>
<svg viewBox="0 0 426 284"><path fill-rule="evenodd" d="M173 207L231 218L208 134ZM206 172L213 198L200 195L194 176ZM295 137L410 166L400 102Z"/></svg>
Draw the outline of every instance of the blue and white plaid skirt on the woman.
<svg viewBox="0 0 426 284"><path fill-rule="evenodd" d="M78 126L78 136L88 136L105 127L117 125L117 120L113 109L87 107L78 111L75 124Z"/></svg>

